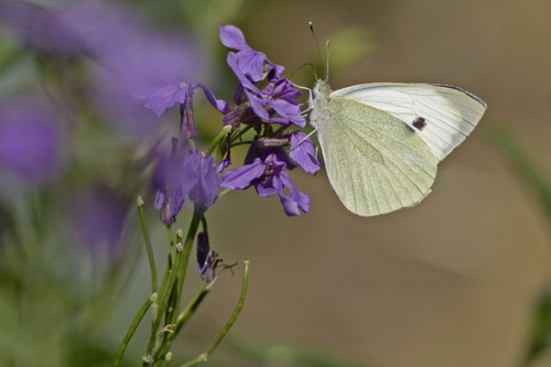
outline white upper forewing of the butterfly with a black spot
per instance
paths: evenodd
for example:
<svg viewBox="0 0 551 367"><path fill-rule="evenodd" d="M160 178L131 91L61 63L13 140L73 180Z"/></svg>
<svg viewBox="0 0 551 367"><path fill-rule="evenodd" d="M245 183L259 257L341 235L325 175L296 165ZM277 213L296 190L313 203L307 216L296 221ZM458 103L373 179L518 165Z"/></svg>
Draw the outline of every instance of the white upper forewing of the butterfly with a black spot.
<svg viewBox="0 0 551 367"><path fill-rule="evenodd" d="M349 98L399 118L419 132L439 161L465 140L486 110L480 98L442 84L363 84L335 90L331 97Z"/></svg>

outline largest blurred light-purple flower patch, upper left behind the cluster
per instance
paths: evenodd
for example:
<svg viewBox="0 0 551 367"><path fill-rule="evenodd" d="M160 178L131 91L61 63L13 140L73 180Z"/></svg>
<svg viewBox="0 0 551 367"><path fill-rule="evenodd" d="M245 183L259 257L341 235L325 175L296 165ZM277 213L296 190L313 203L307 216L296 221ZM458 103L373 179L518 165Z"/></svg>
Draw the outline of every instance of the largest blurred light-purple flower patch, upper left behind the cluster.
<svg viewBox="0 0 551 367"><path fill-rule="evenodd" d="M77 1L62 9L61 17L95 51L93 102L125 131L140 137L158 131L158 119L143 114L132 94L194 79L205 65L198 46L182 31L153 35L131 8Z"/></svg>

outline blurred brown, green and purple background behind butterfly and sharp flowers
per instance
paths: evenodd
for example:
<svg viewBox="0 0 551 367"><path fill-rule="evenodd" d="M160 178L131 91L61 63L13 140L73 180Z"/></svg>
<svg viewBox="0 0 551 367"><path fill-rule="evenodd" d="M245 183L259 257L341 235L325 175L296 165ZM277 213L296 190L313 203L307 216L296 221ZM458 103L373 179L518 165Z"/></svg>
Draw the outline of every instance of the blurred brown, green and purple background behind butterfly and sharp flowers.
<svg viewBox="0 0 551 367"><path fill-rule="evenodd" d="M251 272L209 365L551 366L550 14L548 1L0 2L0 366L109 365L149 294L134 201L145 199L162 263L149 161L177 115L156 118L130 94L201 80L230 99L218 23L312 86L300 68L321 71L309 21L323 55L331 40L334 89L445 83L488 110L414 208L356 217L324 172L291 173L311 196L300 217L252 191L224 196L207 213L210 246L226 263L250 259ZM207 142L222 122L204 101ZM231 314L235 272L179 336L176 363ZM190 278L188 298L199 284ZM145 322L128 366L148 332Z"/></svg>

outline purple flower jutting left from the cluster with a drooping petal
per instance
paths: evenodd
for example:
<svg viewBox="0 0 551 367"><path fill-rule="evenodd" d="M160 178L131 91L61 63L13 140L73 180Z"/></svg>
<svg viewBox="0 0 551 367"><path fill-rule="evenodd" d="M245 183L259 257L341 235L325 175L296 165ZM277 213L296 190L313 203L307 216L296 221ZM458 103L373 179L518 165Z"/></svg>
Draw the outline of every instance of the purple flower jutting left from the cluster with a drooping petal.
<svg viewBox="0 0 551 367"><path fill-rule="evenodd" d="M228 112L228 104L224 99L216 99L214 93L202 83L187 85L185 83L170 83L162 87L153 88L147 93L133 94L138 99L145 100L145 107L161 116L166 109L180 104L180 130L183 139L191 139L197 136L195 128L195 118L193 114L193 93L195 89L202 88L207 97L207 100L219 112Z"/></svg>

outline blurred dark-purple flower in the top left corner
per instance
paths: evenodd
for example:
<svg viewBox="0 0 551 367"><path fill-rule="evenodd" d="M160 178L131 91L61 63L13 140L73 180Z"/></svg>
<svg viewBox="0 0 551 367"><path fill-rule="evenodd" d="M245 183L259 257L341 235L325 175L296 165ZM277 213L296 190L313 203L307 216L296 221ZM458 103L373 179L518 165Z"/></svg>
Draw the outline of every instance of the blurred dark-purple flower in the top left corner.
<svg viewBox="0 0 551 367"><path fill-rule="evenodd" d="M89 53L87 44L54 10L25 1L2 1L0 25L6 26L26 46L54 54Z"/></svg>

